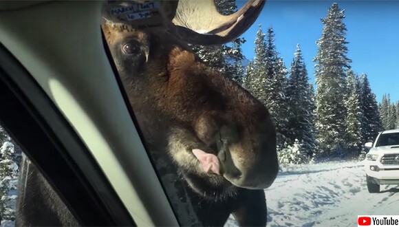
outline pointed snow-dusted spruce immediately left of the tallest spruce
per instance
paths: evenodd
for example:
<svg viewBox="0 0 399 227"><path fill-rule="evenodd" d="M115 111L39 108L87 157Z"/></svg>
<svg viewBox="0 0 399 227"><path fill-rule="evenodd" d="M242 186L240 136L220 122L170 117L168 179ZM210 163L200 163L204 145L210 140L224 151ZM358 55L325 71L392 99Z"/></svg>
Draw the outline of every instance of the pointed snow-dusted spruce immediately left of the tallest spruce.
<svg viewBox="0 0 399 227"><path fill-rule="evenodd" d="M294 60L291 63L288 78L288 144L297 139L302 142L302 149L311 157L314 153L316 140L314 138L314 99L312 85L308 83L308 71L301 52L296 45Z"/></svg>

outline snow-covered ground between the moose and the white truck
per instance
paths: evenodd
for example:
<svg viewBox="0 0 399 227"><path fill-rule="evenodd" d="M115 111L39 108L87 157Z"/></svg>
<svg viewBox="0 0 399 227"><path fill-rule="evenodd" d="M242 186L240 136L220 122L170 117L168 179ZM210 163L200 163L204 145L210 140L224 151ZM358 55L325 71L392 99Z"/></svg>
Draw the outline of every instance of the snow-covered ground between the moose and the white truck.
<svg viewBox="0 0 399 227"><path fill-rule="evenodd" d="M361 162L285 167L265 190L268 226L356 226L358 215L399 215L399 186L367 191ZM230 217L225 226L238 226Z"/></svg>

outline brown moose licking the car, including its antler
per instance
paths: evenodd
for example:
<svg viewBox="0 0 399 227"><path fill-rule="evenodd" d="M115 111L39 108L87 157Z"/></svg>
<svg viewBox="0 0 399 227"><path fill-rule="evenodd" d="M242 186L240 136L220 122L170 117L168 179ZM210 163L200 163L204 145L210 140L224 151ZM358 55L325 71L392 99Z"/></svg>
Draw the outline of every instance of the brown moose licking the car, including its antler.
<svg viewBox="0 0 399 227"><path fill-rule="evenodd" d="M173 18L177 36L110 21L101 25L146 147L155 162L171 166L174 179L162 180L177 180L203 226L223 226L229 215L240 226L266 226L263 189L279 169L272 118L261 102L208 67L190 46L233 41L264 4L249 0L224 16L213 0L180 0ZM204 15L213 19L202 20ZM24 198L19 196L17 226L80 226L34 164L28 171L28 179L23 174L19 181ZM167 183L173 197L174 186ZM32 214L38 205L40 212Z"/></svg>

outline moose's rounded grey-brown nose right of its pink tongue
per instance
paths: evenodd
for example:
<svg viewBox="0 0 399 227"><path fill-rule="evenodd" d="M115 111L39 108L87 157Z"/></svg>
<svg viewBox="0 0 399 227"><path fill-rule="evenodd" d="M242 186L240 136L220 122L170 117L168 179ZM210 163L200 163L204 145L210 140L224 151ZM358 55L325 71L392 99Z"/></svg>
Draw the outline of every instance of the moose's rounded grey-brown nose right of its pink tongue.
<svg viewBox="0 0 399 227"><path fill-rule="evenodd" d="M257 142L242 140L236 125L221 127L216 136L222 175L235 186L249 189L268 188L279 171L274 131L268 122L259 126Z"/></svg>

